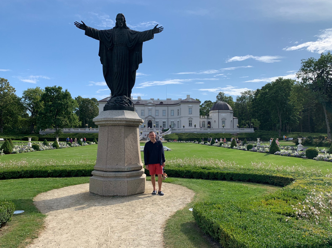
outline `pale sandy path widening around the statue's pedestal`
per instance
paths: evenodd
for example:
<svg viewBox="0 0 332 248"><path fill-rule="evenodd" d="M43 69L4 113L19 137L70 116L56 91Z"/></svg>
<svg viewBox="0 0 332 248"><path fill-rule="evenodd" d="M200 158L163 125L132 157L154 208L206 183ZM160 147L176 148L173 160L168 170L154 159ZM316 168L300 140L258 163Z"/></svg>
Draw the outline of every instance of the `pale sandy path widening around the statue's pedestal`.
<svg viewBox="0 0 332 248"><path fill-rule="evenodd" d="M165 221L188 204L194 192L163 183L164 196L143 194L102 197L89 193L89 184L69 186L35 197L47 217L45 230L28 248L163 247Z"/></svg>

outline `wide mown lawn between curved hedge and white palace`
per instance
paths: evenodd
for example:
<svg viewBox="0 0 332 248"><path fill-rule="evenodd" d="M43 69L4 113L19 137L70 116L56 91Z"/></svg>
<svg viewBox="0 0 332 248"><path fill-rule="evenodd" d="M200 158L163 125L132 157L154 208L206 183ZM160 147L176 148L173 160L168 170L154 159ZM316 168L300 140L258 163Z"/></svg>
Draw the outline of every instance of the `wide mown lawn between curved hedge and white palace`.
<svg viewBox="0 0 332 248"><path fill-rule="evenodd" d="M143 145L143 144L141 144ZM167 160L175 160L177 158L197 157L203 159L219 159L224 161L233 161L237 165L244 167L254 167L255 164L264 163L265 166L289 166L303 167L305 169L320 170L324 174L332 171L332 163L325 161L316 161L307 158L286 157L273 154L255 153L228 149L215 146L199 145L194 143L164 143L165 146L172 149L166 151ZM47 151L8 154L0 156L0 166L15 166L20 161L24 161L21 166L34 164L73 164L74 162L85 162L94 164L97 157L98 145L71 147L66 149L54 149ZM143 152L141 152L143 158ZM252 164L254 163L254 165Z"/></svg>

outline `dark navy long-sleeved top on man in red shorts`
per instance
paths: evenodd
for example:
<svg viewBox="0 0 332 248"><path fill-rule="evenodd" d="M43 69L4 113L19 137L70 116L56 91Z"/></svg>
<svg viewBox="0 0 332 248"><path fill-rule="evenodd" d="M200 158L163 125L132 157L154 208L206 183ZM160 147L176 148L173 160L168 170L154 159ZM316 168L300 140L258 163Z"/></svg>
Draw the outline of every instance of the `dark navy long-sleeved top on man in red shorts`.
<svg viewBox="0 0 332 248"><path fill-rule="evenodd" d="M164 147L160 140L155 143L148 141L144 146L144 164L162 164L165 162Z"/></svg>

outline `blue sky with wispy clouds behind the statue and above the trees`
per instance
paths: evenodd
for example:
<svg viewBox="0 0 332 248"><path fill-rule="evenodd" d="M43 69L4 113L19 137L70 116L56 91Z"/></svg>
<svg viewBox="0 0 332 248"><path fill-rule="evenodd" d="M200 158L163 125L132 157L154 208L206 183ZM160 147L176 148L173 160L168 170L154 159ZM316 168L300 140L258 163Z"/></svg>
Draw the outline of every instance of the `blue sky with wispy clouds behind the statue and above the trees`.
<svg viewBox="0 0 332 248"><path fill-rule="evenodd" d="M75 21L111 29L164 31L143 44L132 96L215 100L295 79L301 59L332 50L331 0L1 0L0 77L18 96L61 86L72 97L109 96L99 41Z"/></svg>

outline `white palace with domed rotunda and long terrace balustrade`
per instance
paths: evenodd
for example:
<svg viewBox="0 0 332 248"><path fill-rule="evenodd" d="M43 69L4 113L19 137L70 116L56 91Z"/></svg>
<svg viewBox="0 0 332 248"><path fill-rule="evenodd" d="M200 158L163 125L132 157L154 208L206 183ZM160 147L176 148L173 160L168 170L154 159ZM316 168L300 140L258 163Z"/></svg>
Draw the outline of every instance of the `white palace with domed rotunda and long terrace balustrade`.
<svg viewBox="0 0 332 248"><path fill-rule="evenodd" d="M111 98L99 102L99 112ZM167 133L253 133L253 128L238 128L238 119L233 109L226 102L219 101L210 109L209 116L200 116L200 101L191 98L132 99L137 115L144 123L139 127L141 134L156 131L160 135L164 129ZM53 133L55 129L40 130L40 134ZM63 133L98 133L98 128L63 128ZM164 133L166 134L166 133Z"/></svg>

